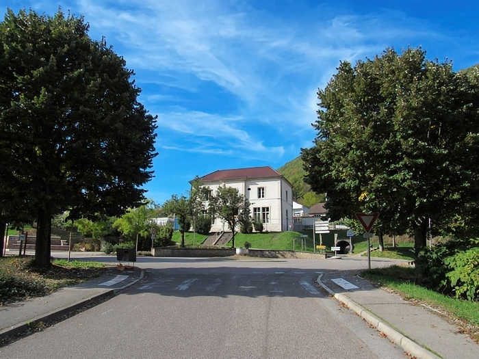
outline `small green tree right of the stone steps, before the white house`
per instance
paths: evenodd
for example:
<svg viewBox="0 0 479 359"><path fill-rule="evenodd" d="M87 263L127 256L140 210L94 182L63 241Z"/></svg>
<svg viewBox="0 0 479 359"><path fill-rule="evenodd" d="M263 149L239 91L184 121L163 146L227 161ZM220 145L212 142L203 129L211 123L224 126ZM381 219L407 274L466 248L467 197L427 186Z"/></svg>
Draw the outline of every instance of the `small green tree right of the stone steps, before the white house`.
<svg viewBox="0 0 479 359"><path fill-rule="evenodd" d="M249 207L250 202L236 188L226 187L226 185L218 187L216 193L209 197L210 212L224 220L233 232L232 248L235 248L235 227L238 216Z"/></svg>

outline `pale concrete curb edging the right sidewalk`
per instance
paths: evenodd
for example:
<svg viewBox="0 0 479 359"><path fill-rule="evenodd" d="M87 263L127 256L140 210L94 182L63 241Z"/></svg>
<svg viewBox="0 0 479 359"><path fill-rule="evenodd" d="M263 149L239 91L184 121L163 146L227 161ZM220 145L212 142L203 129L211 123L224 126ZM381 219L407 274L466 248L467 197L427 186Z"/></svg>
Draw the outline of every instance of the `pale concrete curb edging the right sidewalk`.
<svg viewBox="0 0 479 359"><path fill-rule="evenodd" d="M326 286L326 284L321 282L322 276L323 274L320 274L316 282L325 291L335 297L336 300L339 300L339 302L342 302L346 306L348 306L348 308L357 313L357 315L367 321L367 323L374 326L374 328L384 333L391 342L399 345L400 347L402 347L402 349L404 349L404 351L415 356L415 358L417 359L441 359L441 357L437 356L436 354L432 353L421 345L415 343L404 334L398 332L398 330L392 328L391 325L385 323L382 319L376 317L374 313L371 313L369 310L361 306L361 304L357 304L357 302L351 300L347 295L344 295L342 293L335 293L334 291L332 291Z"/></svg>

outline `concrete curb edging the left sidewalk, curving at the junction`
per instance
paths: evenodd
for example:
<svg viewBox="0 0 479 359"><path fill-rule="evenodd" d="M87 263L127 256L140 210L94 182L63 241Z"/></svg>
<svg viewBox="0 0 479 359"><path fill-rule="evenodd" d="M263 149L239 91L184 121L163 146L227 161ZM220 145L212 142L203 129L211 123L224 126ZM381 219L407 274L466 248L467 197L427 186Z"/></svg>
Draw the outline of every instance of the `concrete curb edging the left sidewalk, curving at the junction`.
<svg viewBox="0 0 479 359"><path fill-rule="evenodd" d="M34 319L30 319L27 321L24 321L23 323L19 323L17 325L14 325L10 328L5 328L3 330L0 330L0 340L3 340L3 338L6 338L8 336L16 336L18 334L21 334L25 331L27 331L29 328L35 328L38 323L42 323L45 321L57 319L59 317L62 317L62 315L66 315L68 313L74 312L75 310L86 306L92 302L97 302L99 300L102 300L104 298L109 299L110 297L114 297L115 295L120 294L122 291L127 289L128 287L131 287L133 284L136 284L140 280L143 279L144 276L144 271L141 269L140 277L138 279L133 280L132 282L125 284L123 287L116 288L116 289L109 289L103 293L99 293L96 295L92 295L92 297L88 297L83 300L79 300L78 302L75 302L73 304L70 304L64 308L59 308L57 310L53 310L50 313L40 315Z"/></svg>

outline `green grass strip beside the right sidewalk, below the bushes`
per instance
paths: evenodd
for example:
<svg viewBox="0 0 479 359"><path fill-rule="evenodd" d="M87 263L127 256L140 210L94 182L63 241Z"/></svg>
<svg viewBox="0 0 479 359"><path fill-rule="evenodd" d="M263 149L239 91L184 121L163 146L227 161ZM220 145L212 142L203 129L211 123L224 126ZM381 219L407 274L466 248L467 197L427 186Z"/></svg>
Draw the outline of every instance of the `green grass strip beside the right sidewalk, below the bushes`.
<svg viewBox="0 0 479 359"><path fill-rule="evenodd" d="M393 265L363 271L361 276L396 291L406 300L422 302L443 312L446 317L455 320L456 325L459 321L462 330L479 343L479 302L459 300L414 284L413 268Z"/></svg>

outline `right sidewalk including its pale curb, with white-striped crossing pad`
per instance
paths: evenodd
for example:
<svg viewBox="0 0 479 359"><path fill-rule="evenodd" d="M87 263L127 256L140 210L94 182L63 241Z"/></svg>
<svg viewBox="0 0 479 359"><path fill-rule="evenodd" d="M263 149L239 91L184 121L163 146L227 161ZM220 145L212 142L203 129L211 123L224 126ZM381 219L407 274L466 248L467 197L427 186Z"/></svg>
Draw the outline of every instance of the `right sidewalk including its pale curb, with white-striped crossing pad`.
<svg viewBox="0 0 479 359"><path fill-rule="evenodd" d="M341 278L346 282L341 281ZM386 334L390 341L418 359L479 358L479 345L466 334L459 334L454 325L449 324L432 308L414 305L357 276L321 274L317 282L337 300Z"/></svg>

